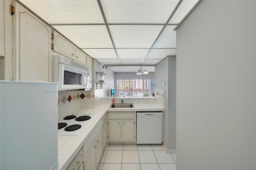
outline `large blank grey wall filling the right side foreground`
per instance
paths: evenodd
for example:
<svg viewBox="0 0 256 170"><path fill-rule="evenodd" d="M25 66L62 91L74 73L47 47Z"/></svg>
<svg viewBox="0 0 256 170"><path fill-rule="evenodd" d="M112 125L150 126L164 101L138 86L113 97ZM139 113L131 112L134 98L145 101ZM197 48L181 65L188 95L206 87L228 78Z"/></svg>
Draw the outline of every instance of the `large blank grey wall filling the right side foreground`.
<svg viewBox="0 0 256 170"><path fill-rule="evenodd" d="M256 168L256 1L202 0L176 32L176 169Z"/></svg>

